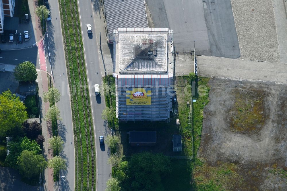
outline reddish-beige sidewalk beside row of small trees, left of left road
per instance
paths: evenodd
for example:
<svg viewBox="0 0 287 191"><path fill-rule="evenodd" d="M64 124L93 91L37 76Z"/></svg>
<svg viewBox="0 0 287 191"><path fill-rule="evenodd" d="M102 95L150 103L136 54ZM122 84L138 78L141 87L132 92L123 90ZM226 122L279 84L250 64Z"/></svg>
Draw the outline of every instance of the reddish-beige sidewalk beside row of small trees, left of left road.
<svg viewBox="0 0 287 191"><path fill-rule="evenodd" d="M43 152L44 152L44 158L46 160L53 157L53 151L51 149L48 149L48 139L52 137L52 126L50 122L46 122L43 119L43 116L45 116L46 111L49 109L49 102L44 103L42 101L43 92L48 91L48 77L47 73L44 71L41 71L37 69L38 73L38 87L39 87L39 107L40 107L40 118L41 118L41 125L42 125L42 135L45 137L45 142L43 143ZM45 169L45 174L43 176L43 188L44 190L52 191L54 182L53 182L53 170L51 168Z"/></svg>

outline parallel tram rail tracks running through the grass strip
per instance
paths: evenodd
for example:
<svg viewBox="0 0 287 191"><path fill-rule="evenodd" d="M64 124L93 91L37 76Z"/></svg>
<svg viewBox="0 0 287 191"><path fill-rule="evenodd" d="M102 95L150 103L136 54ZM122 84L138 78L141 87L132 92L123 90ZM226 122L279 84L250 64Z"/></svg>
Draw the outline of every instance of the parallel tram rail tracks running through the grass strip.
<svg viewBox="0 0 287 191"><path fill-rule="evenodd" d="M73 3L72 3L73 1ZM64 30L64 42L65 42L65 52L66 52L66 58L69 57L68 54L68 46L69 46L69 53L71 55L71 57L73 57L73 51L72 51L72 46L71 46L71 38L70 35L65 35L65 30L67 30L68 34L70 34L70 32L72 32L73 35L73 40L75 42L75 52L76 52L76 62L73 62L73 60L71 59L69 62L69 59L67 60L67 72L69 75L69 87L70 87L70 91L73 90L72 84L74 84L75 87L75 102L73 100L73 98L71 98L71 104L72 104L72 108L73 108L73 125L75 125L75 147L76 147L76 157L77 157L77 172L76 172L76 185L75 185L75 190L83 190L83 145L82 145L82 135L81 135L81 121L82 118L80 117L79 114L79 105L78 105L78 101L79 99L81 99L82 101L82 110L83 110L83 121L84 121L84 128L85 128L85 138L86 138L86 153L87 153L87 182L85 183L85 185L87 185L87 190L89 190L90 186L91 186L91 190L94 190L94 137L93 137L93 133L92 133L92 124L91 124L91 111L90 111L90 106L89 106L89 98L88 98L88 93L87 93L87 84L86 84L86 69L84 66L84 59L83 59L83 52L82 52L82 40L81 40L81 36L79 34L80 28L78 25L78 14L77 14L77 6L75 0L69 0L69 6L70 9L68 9L68 5L66 4L66 0L63 0L63 7L62 7L62 2L61 0L59 1L60 3L60 10L64 10L65 11L65 22L67 23L67 29L65 29L65 25L63 27ZM70 10L70 14L71 14L71 25L72 26L72 30L69 29L69 19L67 17L67 10ZM63 13L61 14L61 19L62 22L64 22L64 18L63 18ZM78 35L75 35L78 34ZM67 38L69 40L69 42L67 43ZM78 39L77 39L78 38ZM77 40L79 42L79 48L77 47ZM79 58L80 55L80 58ZM77 73L74 72L75 68L73 68L73 63L75 63L77 65ZM70 68L70 64L72 65L72 68ZM80 89L80 95L77 95L77 89L76 89L76 79L75 79L75 75L78 75L79 77L79 89ZM73 79L73 81L71 81L71 79ZM83 83L82 83L83 82ZM84 86L84 87L83 87ZM71 92L72 93L72 92ZM79 98L80 97L80 98ZM85 100L84 100L85 97ZM86 101L86 104L85 104ZM74 107L74 103L76 103L76 108ZM87 110L87 111L86 111ZM76 113L75 113L76 111ZM76 118L77 117L77 118ZM76 119L75 119L76 118ZM87 122L88 120L88 122ZM78 123L76 122L78 121ZM79 130L79 140L77 137L77 128ZM88 133L89 131L89 133ZM89 136L89 137L88 137ZM78 141L80 142L80 150L81 150L81 159L80 159L80 165L81 165L81 170L79 171L79 153L78 153ZM89 152L89 146L88 143L90 142L90 150L91 152ZM90 157L91 157L91 161L90 161ZM91 162L91 163L90 163ZM84 161L85 163L85 161ZM91 169L90 169L91 166ZM81 176L80 180L79 180L79 174ZM91 179L91 182L90 182ZM79 181L81 182L81 184L79 185Z"/></svg>

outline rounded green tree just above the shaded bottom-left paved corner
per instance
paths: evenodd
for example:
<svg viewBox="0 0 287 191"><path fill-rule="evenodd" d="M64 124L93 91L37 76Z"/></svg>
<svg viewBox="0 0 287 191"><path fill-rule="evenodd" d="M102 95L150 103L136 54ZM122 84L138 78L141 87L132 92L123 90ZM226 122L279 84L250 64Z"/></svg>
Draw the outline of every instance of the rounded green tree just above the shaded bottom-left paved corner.
<svg viewBox="0 0 287 191"><path fill-rule="evenodd" d="M28 179L40 174L42 169L47 167L47 161L42 155L35 155L27 150L22 151L16 164L20 174Z"/></svg>

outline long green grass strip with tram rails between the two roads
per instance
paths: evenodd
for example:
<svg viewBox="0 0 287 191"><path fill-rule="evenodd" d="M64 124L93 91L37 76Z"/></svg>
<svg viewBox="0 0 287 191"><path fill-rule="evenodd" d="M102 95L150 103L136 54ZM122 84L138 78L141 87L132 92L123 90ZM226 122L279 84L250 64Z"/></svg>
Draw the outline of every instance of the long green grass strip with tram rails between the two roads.
<svg viewBox="0 0 287 191"><path fill-rule="evenodd" d="M59 4L60 4L59 8L61 15L64 46L65 46L66 65L68 70L67 75L69 80L69 87L71 93L70 96L72 103L72 117L73 117L73 128L74 128L73 130L74 130L74 141L75 141L75 190L92 190L92 188L95 189L96 186L96 180L94 180L94 184L92 184L92 149L94 151L93 153L94 179L96 178L96 161L95 161L96 150L94 147L94 131L93 131L92 113L91 113L92 110L90 107L88 83L86 81L87 79L86 66L84 63L84 55L81 55L80 52L80 50L83 50L82 36L80 35L80 37L78 38L77 34L77 32L80 32L77 1L75 2L72 1L71 6L69 0L59 0ZM74 6L76 7L77 10L77 17L74 12ZM65 12L65 10L67 12ZM73 11L72 12L73 18L71 11ZM73 31L73 24L75 27L75 32ZM78 28L79 31L77 30ZM75 36L76 39L74 38ZM82 54L83 53L84 52L82 51ZM77 56L79 60L77 60ZM81 56L83 56L82 57L83 60ZM78 69L78 63L80 69ZM82 70L82 68L84 68L84 71ZM80 84L82 84L83 93L81 93ZM84 84L86 84L87 86L86 89L84 88ZM85 91L87 93L87 98L85 96ZM88 111L90 112L90 122L88 121ZM86 115L86 119L84 118L84 115ZM85 122L87 124L87 129L85 128ZM89 123L91 129L89 128ZM86 134L88 134L87 138Z"/></svg>

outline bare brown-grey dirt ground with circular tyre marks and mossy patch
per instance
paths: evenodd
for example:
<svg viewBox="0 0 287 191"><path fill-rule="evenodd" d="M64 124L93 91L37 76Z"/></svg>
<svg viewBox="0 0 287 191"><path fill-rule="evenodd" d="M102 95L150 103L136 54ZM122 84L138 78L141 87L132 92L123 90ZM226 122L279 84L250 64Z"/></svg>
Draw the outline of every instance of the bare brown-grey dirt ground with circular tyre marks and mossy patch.
<svg viewBox="0 0 287 191"><path fill-rule="evenodd" d="M232 190L287 189L287 85L211 79L198 156L233 163ZM234 180L235 181L235 180Z"/></svg>

